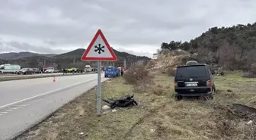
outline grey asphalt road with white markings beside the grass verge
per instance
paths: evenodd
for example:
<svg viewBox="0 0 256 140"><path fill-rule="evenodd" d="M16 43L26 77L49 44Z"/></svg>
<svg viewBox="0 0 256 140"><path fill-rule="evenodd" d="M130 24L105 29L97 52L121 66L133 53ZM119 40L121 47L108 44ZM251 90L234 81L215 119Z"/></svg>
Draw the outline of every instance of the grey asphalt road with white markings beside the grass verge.
<svg viewBox="0 0 256 140"><path fill-rule="evenodd" d="M104 74L101 77L101 82L106 80ZM63 104L97 86L97 78L97 74L88 74L58 76L56 82L52 77L1 82L0 140L24 132Z"/></svg>

